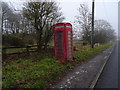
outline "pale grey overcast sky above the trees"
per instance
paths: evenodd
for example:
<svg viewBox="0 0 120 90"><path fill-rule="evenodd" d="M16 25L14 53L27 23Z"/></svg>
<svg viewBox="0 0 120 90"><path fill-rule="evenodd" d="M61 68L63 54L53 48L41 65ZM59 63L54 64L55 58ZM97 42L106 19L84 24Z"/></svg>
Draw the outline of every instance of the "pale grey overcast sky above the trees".
<svg viewBox="0 0 120 90"><path fill-rule="evenodd" d="M12 1L15 3L12 3ZM6 2L11 2L11 5L15 6L16 9L22 6L21 4L23 1L26 0L6 0ZM64 22L74 22L75 16L78 15L77 9L81 3L88 4L90 10L92 7L92 0L57 1L59 2L63 15L65 16ZM119 0L95 0L95 19L107 20L116 32L118 30L118 1Z"/></svg>

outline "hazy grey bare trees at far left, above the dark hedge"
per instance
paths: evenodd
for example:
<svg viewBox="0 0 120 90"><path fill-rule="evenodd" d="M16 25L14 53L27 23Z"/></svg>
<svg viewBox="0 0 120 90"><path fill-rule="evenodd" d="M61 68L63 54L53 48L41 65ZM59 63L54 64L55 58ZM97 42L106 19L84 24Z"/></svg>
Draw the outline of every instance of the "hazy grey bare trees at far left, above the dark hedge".
<svg viewBox="0 0 120 90"><path fill-rule="evenodd" d="M6 2L1 2L2 6L2 32L7 34L19 33L21 15L15 13Z"/></svg>

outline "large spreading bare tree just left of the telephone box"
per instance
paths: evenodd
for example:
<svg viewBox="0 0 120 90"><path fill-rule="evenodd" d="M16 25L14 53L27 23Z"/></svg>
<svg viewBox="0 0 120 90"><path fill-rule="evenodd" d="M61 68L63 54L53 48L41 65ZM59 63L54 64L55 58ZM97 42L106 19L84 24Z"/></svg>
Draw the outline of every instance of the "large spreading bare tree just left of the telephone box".
<svg viewBox="0 0 120 90"><path fill-rule="evenodd" d="M49 41L53 24L63 19L62 13L55 2L28 2L23 11L24 16L33 24L40 50L42 44Z"/></svg>

